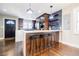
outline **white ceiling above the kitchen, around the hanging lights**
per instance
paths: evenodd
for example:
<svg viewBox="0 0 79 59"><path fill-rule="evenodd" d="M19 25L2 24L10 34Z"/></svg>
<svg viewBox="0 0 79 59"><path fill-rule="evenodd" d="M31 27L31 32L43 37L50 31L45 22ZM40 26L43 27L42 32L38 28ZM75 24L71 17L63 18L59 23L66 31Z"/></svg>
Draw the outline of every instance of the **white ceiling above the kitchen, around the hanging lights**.
<svg viewBox="0 0 79 59"><path fill-rule="evenodd" d="M53 12L62 9L70 4L60 4L60 3L32 3L31 8L34 11L34 17L38 17L43 13L50 13L50 5L53 5ZM29 8L28 3L0 3L0 14L18 16L20 18L27 18L26 10Z"/></svg>

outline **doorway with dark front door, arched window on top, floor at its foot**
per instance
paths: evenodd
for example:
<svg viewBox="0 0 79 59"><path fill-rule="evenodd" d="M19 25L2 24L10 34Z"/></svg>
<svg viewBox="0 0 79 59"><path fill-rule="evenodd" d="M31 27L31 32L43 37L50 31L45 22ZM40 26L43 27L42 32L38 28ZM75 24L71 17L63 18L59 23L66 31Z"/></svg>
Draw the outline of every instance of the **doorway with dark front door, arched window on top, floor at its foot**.
<svg viewBox="0 0 79 59"><path fill-rule="evenodd" d="M5 45L15 43L16 21L5 19Z"/></svg>

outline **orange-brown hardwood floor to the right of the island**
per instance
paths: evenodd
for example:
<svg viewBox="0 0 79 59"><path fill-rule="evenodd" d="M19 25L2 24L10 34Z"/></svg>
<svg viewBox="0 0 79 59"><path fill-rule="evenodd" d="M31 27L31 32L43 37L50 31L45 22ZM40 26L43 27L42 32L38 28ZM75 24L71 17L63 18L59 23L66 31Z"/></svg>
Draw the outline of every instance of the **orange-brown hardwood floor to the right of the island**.
<svg viewBox="0 0 79 59"><path fill-rule="evenodd" d="M38 56L79 56L79 49L59 43L59 46L50 48Z"/></svg>

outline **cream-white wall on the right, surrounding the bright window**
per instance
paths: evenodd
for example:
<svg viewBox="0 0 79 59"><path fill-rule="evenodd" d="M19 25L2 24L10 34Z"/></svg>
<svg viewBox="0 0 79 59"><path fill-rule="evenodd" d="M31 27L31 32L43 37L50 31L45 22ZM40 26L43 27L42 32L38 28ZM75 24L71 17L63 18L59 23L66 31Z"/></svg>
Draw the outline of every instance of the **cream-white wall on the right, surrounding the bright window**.
<svg viewBox="0 0 79 59"><path fill-rule="evenodd" d="M69 7L63 8L62 10L62 39L60 40L64 44L68 44L73 47L79 48L79 34L74 33L74 25L73 22L73 9L79 7L79 4L72 4ZM68 17L69 16L69 17ZM68 22L66 23L66 20ZM66 27L67 26L67 27Z"/></svg>

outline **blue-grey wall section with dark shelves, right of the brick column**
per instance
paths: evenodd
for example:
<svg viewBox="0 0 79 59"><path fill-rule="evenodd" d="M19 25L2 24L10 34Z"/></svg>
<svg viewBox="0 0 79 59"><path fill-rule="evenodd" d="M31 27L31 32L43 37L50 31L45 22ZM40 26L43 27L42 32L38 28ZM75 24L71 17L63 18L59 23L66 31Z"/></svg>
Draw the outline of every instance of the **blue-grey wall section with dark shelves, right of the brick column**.
<svg viewBox="0 0 79 59"><path fill-rule="evenodd" d="M62 25L62 10L49 15L49 29L60 30Z"/></svg>

